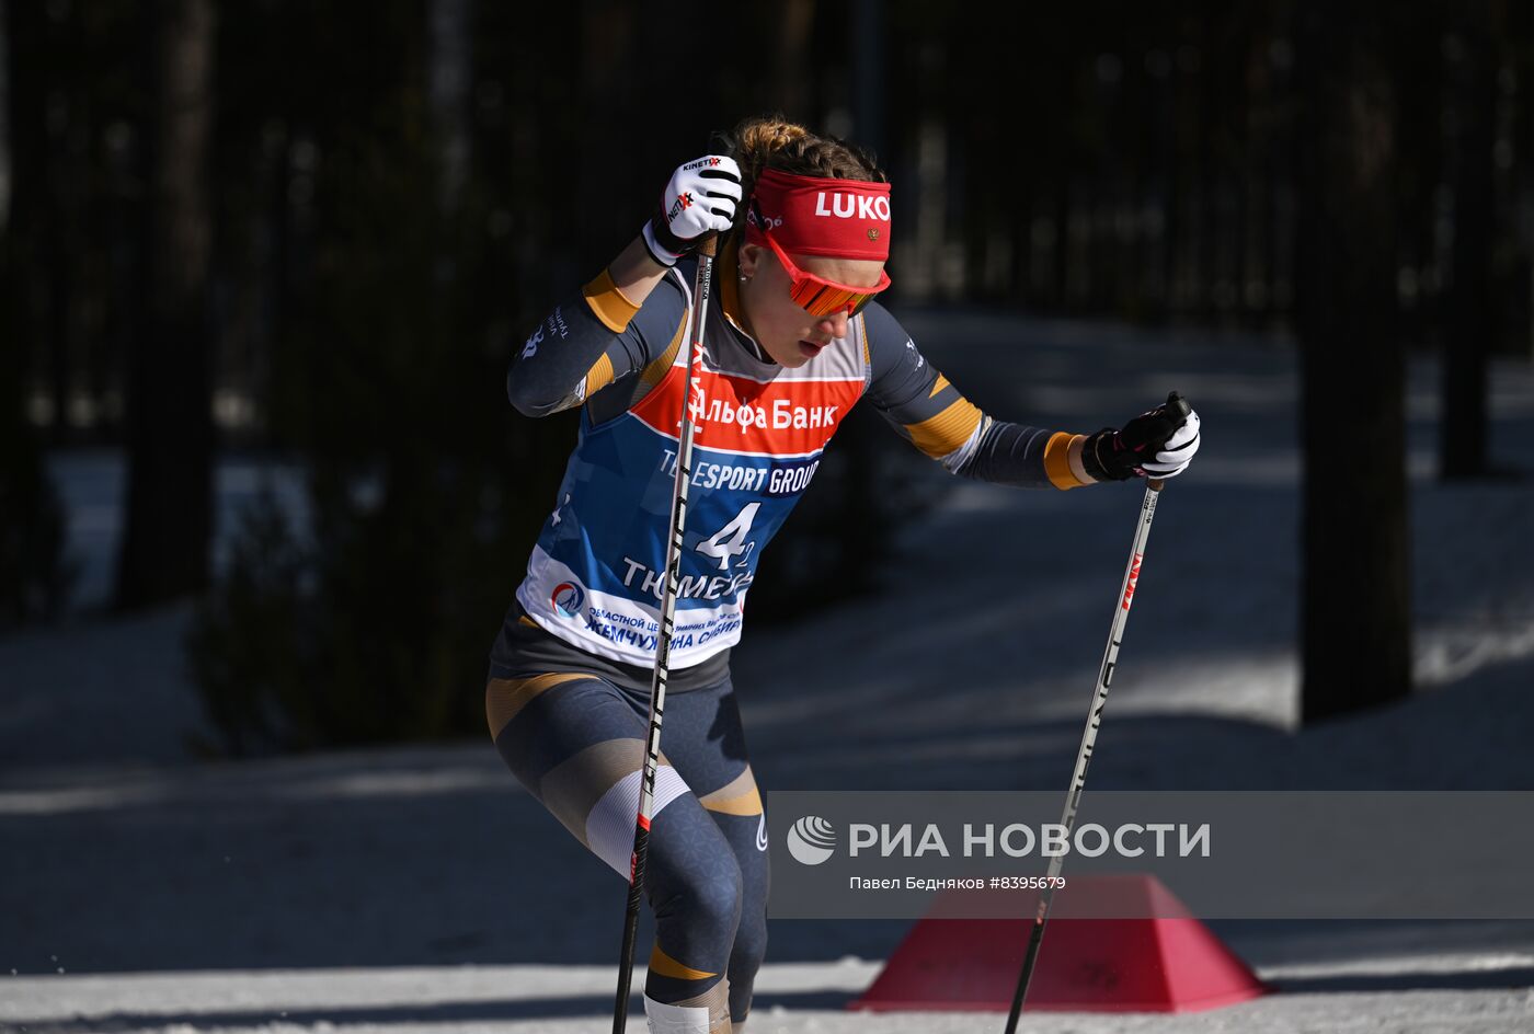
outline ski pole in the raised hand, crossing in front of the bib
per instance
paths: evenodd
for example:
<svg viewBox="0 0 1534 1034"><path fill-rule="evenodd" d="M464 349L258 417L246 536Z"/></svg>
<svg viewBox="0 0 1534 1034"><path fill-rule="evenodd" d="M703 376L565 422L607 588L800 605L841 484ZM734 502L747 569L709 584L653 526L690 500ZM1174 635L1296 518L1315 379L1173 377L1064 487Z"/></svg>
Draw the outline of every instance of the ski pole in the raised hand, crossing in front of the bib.
<svg viewBox="0 0 1534 1034"><path fill-rule="evenodd" d="M640 928L640 893L644 887L644 853L650 838L650 812L655 804L655 773L661 758L661 715L666 712L666 680L670 664L672 626L676 618L676 585L681 578L681 540L687 525L687 482L692 479L692 393L693 376L703 367L703 331L709 313L709 287L713 281L713 255L718 238L698 245L698 275L692 291L692 344L683 377L681 431L676 442L676 477L672 488L670 531L666 535L666 591L661 595L660 640L655 644L655 673L650 680L650 721L644 747L644 775L640 779L640 813L634 824L634 853L629 855L629 908L623 917L623 954L618 959L618 994L612 1005L612 1034L624 1034L629 1023L629 983L634 979L634 940Z"/></svg>

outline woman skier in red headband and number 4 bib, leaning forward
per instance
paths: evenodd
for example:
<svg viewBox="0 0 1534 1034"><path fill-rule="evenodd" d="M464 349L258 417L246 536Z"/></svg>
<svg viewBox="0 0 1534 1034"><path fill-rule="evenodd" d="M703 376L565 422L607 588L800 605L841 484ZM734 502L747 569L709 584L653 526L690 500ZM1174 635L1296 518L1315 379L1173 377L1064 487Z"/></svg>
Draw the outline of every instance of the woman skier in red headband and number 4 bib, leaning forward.
<svg viewBox="0 0 1534 1034"><path fill-rule="evenodd" d="M650 1031L739 1029L767 943L767 835L729 654L758 557L861 397L954 474L1023 488L1172 477L1198 416L1069 434L996 420L928 364L890 287L890 183L870 155L749 120L672 173L614 262L512 361L528 416L583 407L554 512L491 650L502 758L629 878L664 583L693 275L724 235L690 402L693 465L644 891Z"/></svg>

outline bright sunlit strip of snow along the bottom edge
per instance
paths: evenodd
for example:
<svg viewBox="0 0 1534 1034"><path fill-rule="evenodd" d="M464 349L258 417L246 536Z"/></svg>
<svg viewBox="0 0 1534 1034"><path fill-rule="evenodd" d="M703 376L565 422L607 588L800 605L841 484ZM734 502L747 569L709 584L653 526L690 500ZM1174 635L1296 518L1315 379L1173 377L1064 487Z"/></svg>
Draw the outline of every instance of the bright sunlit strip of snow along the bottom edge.
<svg viewBox="0 0 1534 1034"><path fill-rule="evenodd" d="M848 1013L838 1005L861 991L877 965L848 959L825 965L767 963L758 980L752 1034L959 1034L1000 1031L1000 1014ZM1413 968L1434 985L1448 968ZM1528 970L1523 970L1528 973ZM75 1031L259 1031L261 1034L575 1034L612 1029L612 966L460 966L402 970L278 970L192 974L12 980L0 999L0 1023L26 1017L32 1034ZM1488 971L1488 983L1497 974ZM1319 990L1272 994L1186 1016L1029 1014L1023 1034L1246 1034L1293 1031L1351 1034L1526 1034L1534 993L1379 990L1338 980ZM1385 983L1384 986L1390 986ZM1359 990L1368 988L1368 990ZM635 1000L627 1029L643 1034Z"/></svg>

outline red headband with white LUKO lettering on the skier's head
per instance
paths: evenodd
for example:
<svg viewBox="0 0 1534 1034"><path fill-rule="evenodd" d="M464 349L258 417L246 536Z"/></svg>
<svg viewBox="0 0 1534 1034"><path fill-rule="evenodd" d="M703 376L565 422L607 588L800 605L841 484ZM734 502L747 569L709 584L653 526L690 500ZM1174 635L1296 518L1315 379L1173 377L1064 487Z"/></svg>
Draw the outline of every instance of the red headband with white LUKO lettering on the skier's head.
<svg viewBox="0 0 1534 1034"><path fill-rule="evenodd" d="M890 258L890 184L830 176L793 176L767 169L746 209L746 241L784 252L847 259Z"/></svg>

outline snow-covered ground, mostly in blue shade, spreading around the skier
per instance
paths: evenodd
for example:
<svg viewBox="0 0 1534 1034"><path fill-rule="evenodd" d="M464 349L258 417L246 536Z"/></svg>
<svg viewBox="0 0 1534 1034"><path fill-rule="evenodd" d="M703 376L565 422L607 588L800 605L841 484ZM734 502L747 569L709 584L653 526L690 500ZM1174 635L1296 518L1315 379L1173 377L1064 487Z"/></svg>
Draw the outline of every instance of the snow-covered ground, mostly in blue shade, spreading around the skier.
<svg viewBox="0 0 1534 1034"><path fill-rule="evenodd" d="M1172 388L1204 419L1193 469L1160 502L1094 789L1534 789L1526 364L1493 379L1493 448L1516 476L1468 486L1433 480L1434 368L1413 364L1420 690L1301 732L1290 351L985 313L907 322L1003 419L1089 431ZM884 591L749 631L736 652L769 805L773 789L1065 789L1140 489L1019 492L908 462L942 502L908 529ZM54 469L89 604L110 574L120 460L71 454ZM291 469L270 474L296 491ZM222 512L262 476L225 465ZM15 971L0 976L0 1029L606 1029L621 884L488 741L196 762L176 652L187 612L0 640L0 974ZM499 620L486 615L486 643ZM1534 1031L1529 922L1212 925L1282 993L1023 1029ZM1000 1029L994 1016L842 1009L907 928L776 922L747 1029Z"/></svg>

